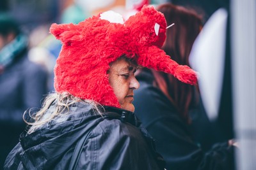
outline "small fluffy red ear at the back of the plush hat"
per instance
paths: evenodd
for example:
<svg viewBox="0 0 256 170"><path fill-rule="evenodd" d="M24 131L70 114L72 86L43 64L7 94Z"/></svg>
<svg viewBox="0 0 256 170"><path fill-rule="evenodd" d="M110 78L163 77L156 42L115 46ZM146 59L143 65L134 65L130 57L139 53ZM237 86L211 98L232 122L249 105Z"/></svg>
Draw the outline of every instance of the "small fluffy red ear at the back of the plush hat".
<svg viewBox="0 0 256 170"><path fill-rule="evenodd" d="M82 36L79 27L74 24L52 24L50 32L64 45L71 45L74 41L81 41Z"/></svg>

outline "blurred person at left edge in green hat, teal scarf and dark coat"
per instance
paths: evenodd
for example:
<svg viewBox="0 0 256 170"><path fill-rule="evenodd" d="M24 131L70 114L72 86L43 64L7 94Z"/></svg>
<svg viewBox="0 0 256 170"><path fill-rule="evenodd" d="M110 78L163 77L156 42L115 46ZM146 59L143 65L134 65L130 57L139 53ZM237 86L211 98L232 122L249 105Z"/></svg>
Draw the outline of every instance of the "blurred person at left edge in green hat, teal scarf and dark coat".
<svg viewBox="0 0 256 170"><path fill-rule="evenodd" d="M47 94L47 72L27 57L28 38L17 21L0 13L0 166L24 131L22 115L40 108Z"/></svg>

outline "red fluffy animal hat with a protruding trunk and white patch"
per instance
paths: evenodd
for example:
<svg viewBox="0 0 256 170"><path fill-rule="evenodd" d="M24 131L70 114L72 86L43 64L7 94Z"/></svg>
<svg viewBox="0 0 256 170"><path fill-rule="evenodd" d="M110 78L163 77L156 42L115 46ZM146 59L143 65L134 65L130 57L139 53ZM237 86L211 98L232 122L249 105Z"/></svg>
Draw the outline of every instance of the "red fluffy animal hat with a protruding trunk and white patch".
<svg viewBox="0 0 256 170"><path fill-rule="evenodd" d="M63 44L54 67L58 93L120 108L107 71L109 63L122 55L140 66L173 74L184 83L196 83L195 71L177 64L160 49L166 38L166 20L154 6L143 6L126 21L106 11L79 24L52 24L50 32Z"/></svg>

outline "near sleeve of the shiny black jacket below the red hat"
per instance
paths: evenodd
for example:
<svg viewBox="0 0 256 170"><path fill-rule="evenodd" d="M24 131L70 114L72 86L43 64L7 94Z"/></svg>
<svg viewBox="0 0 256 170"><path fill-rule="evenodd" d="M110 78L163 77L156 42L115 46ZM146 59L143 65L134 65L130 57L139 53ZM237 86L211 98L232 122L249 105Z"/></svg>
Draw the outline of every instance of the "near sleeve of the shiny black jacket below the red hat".
<svg viewBox="0 0 256 170"><path fill-rule="evenodd" d="M93 129L79 169L159 169L139 129L120 120L104 120Z"/></svg>

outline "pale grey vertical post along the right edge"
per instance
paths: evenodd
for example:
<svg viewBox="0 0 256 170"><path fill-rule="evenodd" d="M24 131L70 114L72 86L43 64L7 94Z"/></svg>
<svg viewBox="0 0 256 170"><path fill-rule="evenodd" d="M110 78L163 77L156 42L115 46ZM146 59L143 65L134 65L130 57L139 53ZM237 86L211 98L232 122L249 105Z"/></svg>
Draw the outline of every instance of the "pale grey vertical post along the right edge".
<svg viewBox="0 0 256 170"><path fill-rule="evenodd" d="M237 169L256 169L256 1L231 1Z"/></svg>

